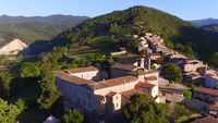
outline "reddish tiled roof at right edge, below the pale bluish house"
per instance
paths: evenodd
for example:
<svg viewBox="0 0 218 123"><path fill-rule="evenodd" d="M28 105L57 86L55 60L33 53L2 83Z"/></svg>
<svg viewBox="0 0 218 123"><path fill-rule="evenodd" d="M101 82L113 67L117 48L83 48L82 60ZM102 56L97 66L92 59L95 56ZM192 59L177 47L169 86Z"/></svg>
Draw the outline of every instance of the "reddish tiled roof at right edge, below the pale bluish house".
<svg viewBox="0 0 218 123"><path fill-rule="evenodd" d="M205 95L210 95L210 96L218 96L218 89L197 87L197 88L194 88L194 91L205 94Z"/></svg>

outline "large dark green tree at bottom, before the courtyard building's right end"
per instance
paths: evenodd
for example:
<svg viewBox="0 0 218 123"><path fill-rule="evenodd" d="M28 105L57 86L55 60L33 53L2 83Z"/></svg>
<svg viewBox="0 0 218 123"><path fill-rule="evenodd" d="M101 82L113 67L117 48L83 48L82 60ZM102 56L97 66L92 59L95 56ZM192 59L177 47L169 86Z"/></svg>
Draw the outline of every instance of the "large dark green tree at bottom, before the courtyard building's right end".
<svg viewBox="0 0 218 123"><path fill-rule="evenodd" d="M126 123L168 123L167 107L147 95L135 95L122 109Z"/></svg>

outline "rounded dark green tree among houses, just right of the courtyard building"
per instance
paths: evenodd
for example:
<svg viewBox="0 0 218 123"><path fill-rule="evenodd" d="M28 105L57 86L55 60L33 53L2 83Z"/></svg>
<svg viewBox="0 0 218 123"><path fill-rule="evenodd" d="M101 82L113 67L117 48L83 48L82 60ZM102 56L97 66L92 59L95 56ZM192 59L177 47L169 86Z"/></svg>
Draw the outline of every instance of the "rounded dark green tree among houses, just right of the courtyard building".
<svg viewBox="0 0 218 123"><path fill-rule="evenodd" d="M182 70L177 64L168 64L162 67L160 75L170 82L181 82L182 81Z"/></svg>

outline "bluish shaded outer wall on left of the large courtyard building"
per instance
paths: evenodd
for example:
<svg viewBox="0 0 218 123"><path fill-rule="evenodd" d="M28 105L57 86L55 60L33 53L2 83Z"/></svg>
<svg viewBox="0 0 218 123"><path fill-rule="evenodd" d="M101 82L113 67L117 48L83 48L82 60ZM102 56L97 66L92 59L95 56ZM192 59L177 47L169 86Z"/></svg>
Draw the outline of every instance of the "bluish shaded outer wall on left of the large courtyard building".
<svg viewBox="0 0 218 123"><path fill-rule="evenodd" d="M97 97L85 86L74 85L57 78L57 87L61 95L64 96L65 101L69 101L70 106L66 107L76 108L84 112L92 112L99 104Z"/></svg>

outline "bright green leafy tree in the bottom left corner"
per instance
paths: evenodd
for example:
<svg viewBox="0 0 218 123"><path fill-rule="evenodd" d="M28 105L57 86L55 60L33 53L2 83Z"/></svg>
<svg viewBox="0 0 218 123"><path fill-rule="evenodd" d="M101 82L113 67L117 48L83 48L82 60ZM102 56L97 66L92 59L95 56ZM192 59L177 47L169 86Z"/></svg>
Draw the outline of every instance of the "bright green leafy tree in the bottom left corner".
<svg viewBox="0 0 218 123"><path fill-rule="evenodd" d="M0 98L0 123L16 123L23 110L22 101L17 101L17 104L11 104Z"/></svg>

